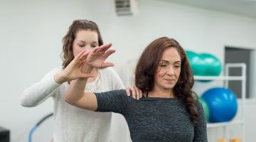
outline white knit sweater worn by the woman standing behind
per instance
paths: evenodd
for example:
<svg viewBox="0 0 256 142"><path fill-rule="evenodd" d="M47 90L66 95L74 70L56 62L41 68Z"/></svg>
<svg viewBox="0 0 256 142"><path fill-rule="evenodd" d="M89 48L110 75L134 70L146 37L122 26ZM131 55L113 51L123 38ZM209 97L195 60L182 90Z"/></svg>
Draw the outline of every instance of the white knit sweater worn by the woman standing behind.
<svg viewBox="0 0 256 142"><path fill-rule="evenodd" d="M112 113L87 111L74 107L65 102L64 94L68 89L68 82L57 84L53 75L63 70L55 68L43 77L41 82L33 84L26 89L21 97L23 107L36 107L49 97L53 97L55 126L53 133L54 142L104 142L110 141ZM99 76L94 82L87 83L87 92L106 92L112 89L123 89L124 85L119 76L111 67L99 70ZM111 138L112 141L129 141L129 130L121 116L114 114L114 128L117 135L123 138ZM122 125L117 126L117 125ZM113 136L112 136L113 137Z"/></svg>

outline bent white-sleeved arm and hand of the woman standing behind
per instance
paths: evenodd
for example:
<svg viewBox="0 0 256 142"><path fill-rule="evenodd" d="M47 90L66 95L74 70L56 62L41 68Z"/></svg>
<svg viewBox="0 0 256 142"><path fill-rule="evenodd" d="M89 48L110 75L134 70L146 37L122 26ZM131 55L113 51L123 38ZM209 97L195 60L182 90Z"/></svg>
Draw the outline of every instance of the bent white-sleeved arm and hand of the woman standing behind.
<svg viewBox="0 0 256 142"><path fill-rule="evenodd" d="M65 70L55 69L43 77L41 82L28 87L22 93L21 105L23 107L36 107L48 99L48 97L55 95L55 89L60 87L60 84L63 82L75 80L79 77L92 77L92 75L80 71L80 66L87 54L85 51L82 51L70 62L68 67L65 67Z"/></svg>

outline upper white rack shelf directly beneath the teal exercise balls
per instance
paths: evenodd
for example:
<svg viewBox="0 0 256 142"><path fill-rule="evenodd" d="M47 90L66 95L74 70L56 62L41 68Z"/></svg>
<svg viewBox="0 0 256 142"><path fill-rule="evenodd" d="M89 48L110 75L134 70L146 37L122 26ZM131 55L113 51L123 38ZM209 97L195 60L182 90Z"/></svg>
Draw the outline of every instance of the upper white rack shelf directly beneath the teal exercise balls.
<svg viewBox="0 0 256 142"><path fill-rule="evenodd" d="M194 76L194 80L245 80L242 76Z"/></svg>

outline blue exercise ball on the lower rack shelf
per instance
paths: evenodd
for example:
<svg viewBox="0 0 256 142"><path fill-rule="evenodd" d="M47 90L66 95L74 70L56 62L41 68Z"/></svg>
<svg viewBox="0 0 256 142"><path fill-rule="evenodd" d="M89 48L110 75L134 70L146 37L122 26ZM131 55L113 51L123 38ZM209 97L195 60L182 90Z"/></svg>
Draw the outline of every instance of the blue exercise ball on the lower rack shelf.
<svg viewBox="0 0 256 142"><path fill-rule="evenodd" d="M209 122L230 121L238 111L236 95L230 89L211 88L204 92L201 97L210 109Z"/></svg>

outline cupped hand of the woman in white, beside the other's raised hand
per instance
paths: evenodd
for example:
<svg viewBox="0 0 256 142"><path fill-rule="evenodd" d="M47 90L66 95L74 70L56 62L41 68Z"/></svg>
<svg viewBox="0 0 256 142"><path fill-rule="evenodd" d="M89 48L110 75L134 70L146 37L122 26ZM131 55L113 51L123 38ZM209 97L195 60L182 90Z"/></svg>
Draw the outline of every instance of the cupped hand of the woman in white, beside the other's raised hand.
<svg viewBox="0 0 256 142"><path fill-rule="evenodd" d="M89 53L90 52L85 52L85 50L83 50L78 55L76 55L75 58L68 64L67 67L65 67L62 72L54 75L55 82L58 84L62 84L63 82L75 80L78 78L94 77L92 74L84 73L80 70L80 67L85 62Z"/></svg>

